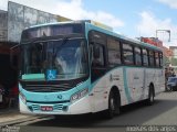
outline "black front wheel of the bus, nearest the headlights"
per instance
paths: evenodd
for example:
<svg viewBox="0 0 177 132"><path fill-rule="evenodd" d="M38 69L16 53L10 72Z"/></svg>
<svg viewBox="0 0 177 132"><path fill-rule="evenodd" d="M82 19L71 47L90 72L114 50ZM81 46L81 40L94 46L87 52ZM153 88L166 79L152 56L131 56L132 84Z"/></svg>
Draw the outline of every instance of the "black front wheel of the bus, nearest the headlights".
<svg viewBox="0 0 177 132"><path fill-rule="evenodd" d="M104 117L106 119L112 119L114 116L119 114L119 95L112 90L108 96L108 109L105 111Z"/></svg>

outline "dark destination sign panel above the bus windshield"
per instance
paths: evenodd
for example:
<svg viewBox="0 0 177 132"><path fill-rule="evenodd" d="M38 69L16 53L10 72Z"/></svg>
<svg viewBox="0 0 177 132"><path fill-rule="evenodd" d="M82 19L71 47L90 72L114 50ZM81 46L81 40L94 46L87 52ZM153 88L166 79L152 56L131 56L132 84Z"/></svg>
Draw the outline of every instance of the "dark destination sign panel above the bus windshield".
<svg viewBox="0 0 177 132"><path fill-rule="evenodd" d="M84 24L82 23L42 25L24 30L21 35L21 42L25 43L60 35L84 34Z"/></svg>

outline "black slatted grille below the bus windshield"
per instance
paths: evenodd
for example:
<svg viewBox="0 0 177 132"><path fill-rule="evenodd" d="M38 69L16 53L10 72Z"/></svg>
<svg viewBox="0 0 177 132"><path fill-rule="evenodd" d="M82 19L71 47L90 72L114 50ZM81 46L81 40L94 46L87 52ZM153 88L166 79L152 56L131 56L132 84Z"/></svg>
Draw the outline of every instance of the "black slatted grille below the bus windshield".
<svg viewBox="0 0 177 132"><path fill-rule="evenodd" d="M60 85L32 85L27 84L22 86L28 91L33 92L56 92L56 91L66 91L72 89L72 86L70 84L60 84Z"/></svg>

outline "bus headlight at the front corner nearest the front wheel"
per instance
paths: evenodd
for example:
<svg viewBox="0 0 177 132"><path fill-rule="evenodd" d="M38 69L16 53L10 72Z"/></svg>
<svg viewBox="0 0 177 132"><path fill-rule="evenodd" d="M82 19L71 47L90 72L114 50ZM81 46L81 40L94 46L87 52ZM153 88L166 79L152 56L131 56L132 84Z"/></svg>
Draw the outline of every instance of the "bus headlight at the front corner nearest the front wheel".
<svg viewBox="0 0 177 132"><path fill-rule="evenodd" d="M88 92L88 89L85 88L85 89L83 89L83 90L74 94L74 95L71 97L71 102L74 102L75 100L81 99L81 98L84 97L87 92Z"/></svg>

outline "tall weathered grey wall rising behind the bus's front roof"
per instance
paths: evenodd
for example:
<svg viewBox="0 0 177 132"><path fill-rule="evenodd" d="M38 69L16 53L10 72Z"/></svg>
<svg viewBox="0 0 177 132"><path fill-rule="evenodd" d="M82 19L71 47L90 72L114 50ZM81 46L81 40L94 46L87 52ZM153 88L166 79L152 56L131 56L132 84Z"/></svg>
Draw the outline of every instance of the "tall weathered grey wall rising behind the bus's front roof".
<svg viewBox="0 0 177 132"><path fill-rule="evenodd" d="M56 22L58 16L14 2L8 3L8 41L19 42L23 29Z"/></svg>

